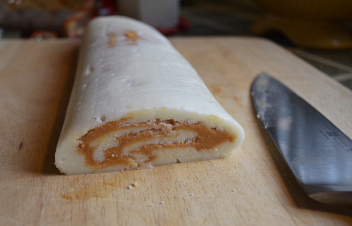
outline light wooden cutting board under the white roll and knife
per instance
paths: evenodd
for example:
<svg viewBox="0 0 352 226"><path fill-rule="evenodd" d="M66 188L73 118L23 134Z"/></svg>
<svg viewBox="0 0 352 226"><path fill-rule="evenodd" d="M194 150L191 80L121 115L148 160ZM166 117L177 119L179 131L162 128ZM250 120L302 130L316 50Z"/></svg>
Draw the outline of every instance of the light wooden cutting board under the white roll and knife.
<svg viewBox="0 0 352 226"><path fill-rule="evenodd" d="M350 137L352 92L262 39L171 41L242 125L243 145L226 159L77 176L60 174L54 154L79 42L0 41L0 225L351 225L351 211L310 200L267 147L250 85L270 73Z"/></svg>

